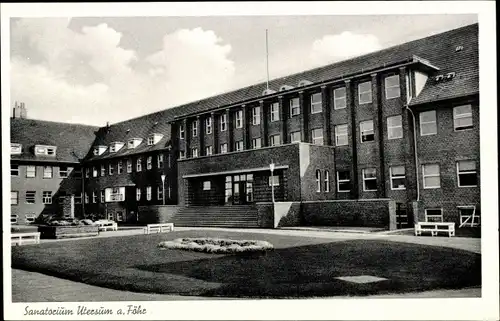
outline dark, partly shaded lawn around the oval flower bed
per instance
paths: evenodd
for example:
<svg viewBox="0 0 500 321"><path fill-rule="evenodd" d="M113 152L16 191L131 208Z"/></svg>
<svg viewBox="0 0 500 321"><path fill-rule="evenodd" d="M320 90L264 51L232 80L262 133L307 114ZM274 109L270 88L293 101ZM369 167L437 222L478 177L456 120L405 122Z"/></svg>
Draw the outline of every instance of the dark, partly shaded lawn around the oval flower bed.
<svg viewBox="0 0 500 321"><path fill-rule="evenodd" d="M268 241L266 254L161 250L180 237ZM383 240L304 238L220 231L184 231L53 242L12 248L12 267L136 292L230 297L369 295L478 286L481 256ZM370 275L358 284L340 276Z"/></svg>

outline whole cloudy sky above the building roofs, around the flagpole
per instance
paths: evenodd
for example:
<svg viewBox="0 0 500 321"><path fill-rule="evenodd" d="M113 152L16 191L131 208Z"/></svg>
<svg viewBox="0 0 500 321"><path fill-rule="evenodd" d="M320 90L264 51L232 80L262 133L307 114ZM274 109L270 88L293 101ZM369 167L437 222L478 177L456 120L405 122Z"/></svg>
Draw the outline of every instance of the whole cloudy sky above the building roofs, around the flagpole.
<svg viewBox="0 0 500 321"><path fill-rule="evenodd" d="M103 126L477 22L477 15L11 18L11 103Z"/></svg>

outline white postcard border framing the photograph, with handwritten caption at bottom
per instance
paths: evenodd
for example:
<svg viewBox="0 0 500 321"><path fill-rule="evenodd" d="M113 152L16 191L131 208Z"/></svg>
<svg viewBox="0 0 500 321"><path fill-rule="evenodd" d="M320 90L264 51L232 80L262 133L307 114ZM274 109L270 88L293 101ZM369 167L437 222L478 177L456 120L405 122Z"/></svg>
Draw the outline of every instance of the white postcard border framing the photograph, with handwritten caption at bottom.
<svg viewBox="0 0 500 321"><path fill-rule="evenodd" d="M433 319L433 320L497 320L498 317L498 185L497 185L497 123L496 123L496 24L495 3L490 1L420 1L408 2L241 2L241 3L22 3L1 4L2 24L2 146L3 155L9 155L9 18L10 17L71 17L71 16L225 16L225 15L374 15L374 14L459 14L477 13L479 17L479 56L481 92L481 169L483 191L481 203L482 233L482 298L474 299L314 299L314 300L242 300L195 302L140 302L150 314L138 319ZM487 80L486 80L487 79ZM487 139L485 139L487 138ZM9 157L2 157L3 212L10 212L7 193L10 190ZM486 195L487 194L487 195ZM8 215L3 215L3 226L9 226ZM3 233L4 245L9 244L8 233ZM34 319L23 316L24 303L11 302L10 246L4 247L4 300L6 319ZM131 302L105 303L118 308ZM135 302L139 303L139 302ZM89 303L98 308L103 302ZM57 307L61 303L30 304ZM77 303L66 303L76 306ZM411 307L411 308L408 308ZM58 319L54 316L36 319ZM66 319L61 317L59 319ZM74 316L72 319L89 319ZM100 317L94 319L110 319ZM126 319L131 319L127 316Z"/></svg>

